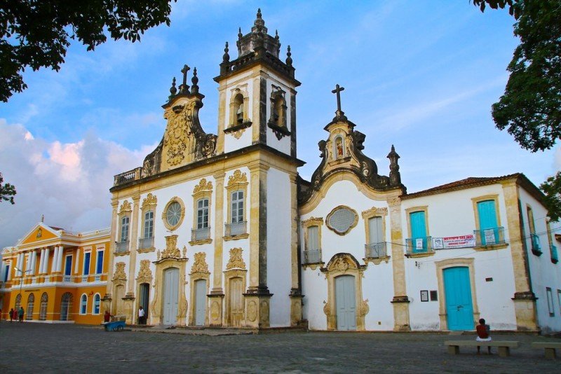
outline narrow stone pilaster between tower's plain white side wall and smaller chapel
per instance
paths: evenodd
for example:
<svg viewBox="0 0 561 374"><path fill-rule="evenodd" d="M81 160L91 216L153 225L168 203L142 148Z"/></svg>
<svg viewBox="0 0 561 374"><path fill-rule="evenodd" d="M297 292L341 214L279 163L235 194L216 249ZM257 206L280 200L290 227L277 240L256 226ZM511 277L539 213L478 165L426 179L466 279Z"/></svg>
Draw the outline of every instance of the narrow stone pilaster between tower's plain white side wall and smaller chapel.
<svg viewBox="0 0 561 374"><path fill-rule="evenodd" d="M292 122L292 121L291 121ZM293 130L294 131L294 130ZM290 326L302 322L302 288L299 282L298 261L298 196L297 174L290 174Z"/></svg>

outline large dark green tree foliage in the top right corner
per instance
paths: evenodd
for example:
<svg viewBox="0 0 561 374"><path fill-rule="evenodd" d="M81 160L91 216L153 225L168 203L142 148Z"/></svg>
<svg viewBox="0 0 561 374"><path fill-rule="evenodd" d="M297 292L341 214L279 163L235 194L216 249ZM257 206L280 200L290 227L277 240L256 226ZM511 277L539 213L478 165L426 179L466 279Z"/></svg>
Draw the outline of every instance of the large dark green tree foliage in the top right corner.
<svg viewBox="0 0 561 374"><path fill-rule="evenodd" d="M473 0L481 11L507 8L520 44L492 115L522 148L544 151L561 139L561 0Z"/></svg>

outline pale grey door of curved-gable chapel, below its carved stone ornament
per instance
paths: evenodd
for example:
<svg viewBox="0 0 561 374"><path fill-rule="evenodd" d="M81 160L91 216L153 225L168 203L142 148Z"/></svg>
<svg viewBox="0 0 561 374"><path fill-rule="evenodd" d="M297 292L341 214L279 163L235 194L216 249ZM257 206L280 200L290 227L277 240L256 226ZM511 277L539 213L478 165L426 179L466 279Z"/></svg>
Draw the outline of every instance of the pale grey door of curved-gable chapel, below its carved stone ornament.
<svg viewBox="0 0 561 374"><path fill-rule="evenodd" d="M352 275L335 278L335 308L337 330L356 330L355 277Z"/></svg>

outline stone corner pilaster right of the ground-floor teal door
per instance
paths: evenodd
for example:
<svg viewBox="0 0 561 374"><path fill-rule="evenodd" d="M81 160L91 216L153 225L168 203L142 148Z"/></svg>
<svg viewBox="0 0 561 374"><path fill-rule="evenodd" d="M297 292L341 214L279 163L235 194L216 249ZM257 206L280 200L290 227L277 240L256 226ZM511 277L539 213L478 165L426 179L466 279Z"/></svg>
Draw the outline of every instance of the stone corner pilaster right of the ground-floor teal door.
<svg viewBox="0 0 561 374"><path fill-rule="evenodd" d="M536 296L532 292L529 278L527 252L520 229L520 204L518 185L516 180L503 183L504 202L506 207L506 221L508 229L508 243L511 246L511 258L514 269L514 310L516 325L519 331L537 331Z"/></svg>

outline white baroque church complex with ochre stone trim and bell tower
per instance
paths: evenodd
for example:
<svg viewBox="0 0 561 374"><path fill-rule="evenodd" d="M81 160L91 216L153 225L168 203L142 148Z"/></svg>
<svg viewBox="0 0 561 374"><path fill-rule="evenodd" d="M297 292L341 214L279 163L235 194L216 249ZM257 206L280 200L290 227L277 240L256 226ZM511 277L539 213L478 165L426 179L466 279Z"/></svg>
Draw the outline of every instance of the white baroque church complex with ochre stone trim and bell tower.
<svg viewBox="0 0 561 374"><path fill-rule="evenodd" d="M559 226L526 176L407 193L395 148L379 169L335 85L306 181L290 46L281 56L258 11L232 49L214 78L217 134L201 127L185 65L161 142L114 177L102 312L135 324L142 306L150 325L471 331L485 317L494 330L561 331Z"/></svg>

